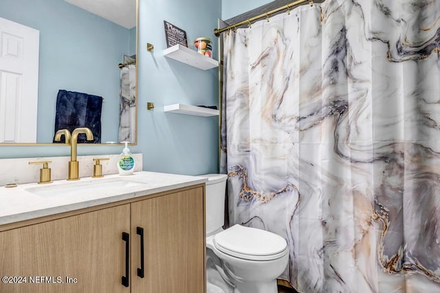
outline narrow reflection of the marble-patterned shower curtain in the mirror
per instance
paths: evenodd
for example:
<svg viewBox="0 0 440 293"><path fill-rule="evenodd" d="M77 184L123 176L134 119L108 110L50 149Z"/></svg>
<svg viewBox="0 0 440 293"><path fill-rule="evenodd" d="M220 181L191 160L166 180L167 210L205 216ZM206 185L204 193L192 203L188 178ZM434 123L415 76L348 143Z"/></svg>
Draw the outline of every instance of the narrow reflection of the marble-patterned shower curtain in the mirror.
<svg viewBox="0 0 440 293"><path fill-rule="evenodd" d="M135 143L136 126L136 66L121 69L119 141Z"/></svg>

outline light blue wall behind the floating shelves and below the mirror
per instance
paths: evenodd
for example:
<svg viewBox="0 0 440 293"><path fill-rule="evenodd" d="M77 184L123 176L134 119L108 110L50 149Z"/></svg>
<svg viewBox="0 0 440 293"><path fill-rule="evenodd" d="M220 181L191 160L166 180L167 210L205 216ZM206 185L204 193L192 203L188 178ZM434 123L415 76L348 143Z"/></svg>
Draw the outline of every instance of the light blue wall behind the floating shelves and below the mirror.
<svg viewBox="0 0 440 293"><path fill-rule="evenodd" d="M15 1L18 0L0 3L12 5ZM0 11L2 9L0 7ZM138 132L137 146L131 146L131 151L144 154L144 170L190 175L218 172L218 117L163 111L164 105L174 103L218 105L218 69L201 71L165 58L163 50L166 49L166 20L186 30L190 47L192 40L199 36L212 38L213 56L217 59L217 37L212 30L217 27L220 16L221 1L140 0ZM155 46L153 53L146 51L147 42ZM154 102L155 109L146 110L146 102ZM119 154L121 150L122 146L80 145L78 155ZM0 158L67 155L66 146L0 148Z"/></svg>

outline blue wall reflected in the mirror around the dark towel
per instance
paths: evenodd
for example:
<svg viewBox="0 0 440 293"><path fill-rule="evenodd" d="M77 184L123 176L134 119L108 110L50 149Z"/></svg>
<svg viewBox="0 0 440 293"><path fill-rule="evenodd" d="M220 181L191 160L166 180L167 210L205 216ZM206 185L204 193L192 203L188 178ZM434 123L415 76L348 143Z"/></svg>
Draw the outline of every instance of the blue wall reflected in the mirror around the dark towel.
<svg viewBox="0 0 440 293"><path fill-rule="evenodd" d="M133 32L60 0L2 0L0 16L40 31L37 141L52 141L59 89L104 97L101 137L117 141L117 65L135 54Z"/></svg>

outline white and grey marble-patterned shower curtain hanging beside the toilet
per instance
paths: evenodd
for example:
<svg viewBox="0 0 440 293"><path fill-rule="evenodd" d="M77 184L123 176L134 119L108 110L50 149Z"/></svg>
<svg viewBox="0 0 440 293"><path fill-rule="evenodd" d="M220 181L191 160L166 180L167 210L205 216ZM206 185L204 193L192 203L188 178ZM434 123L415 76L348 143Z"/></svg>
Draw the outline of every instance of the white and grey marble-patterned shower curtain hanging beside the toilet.
<svg viewBox="0 0 440 293"><path fill-rule="evenodd" d="M440 1L327 0L223 38L230 224L285 237L299 292L440 292Z"/></svg>

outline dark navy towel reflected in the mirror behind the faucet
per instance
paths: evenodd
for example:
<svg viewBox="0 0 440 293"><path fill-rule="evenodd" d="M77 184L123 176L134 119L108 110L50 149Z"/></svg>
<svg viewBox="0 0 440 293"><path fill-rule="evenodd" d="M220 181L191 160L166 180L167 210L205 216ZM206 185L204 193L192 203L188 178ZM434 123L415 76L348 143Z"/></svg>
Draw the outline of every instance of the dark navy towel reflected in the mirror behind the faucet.
<svg viewBox="0 0 440 293"><path fill-rule="evenodd" d="M55 133L60 129L67 129L71 133L75 128L87 127L94 134L93 141L87 141L85 134L78 135L78 143L101 142L101 109L102 97L77 93L74 91L59 90L56 97ZM64 143L64 136L61 143ZM60 141L54 141L60 143Z"/></svg>

